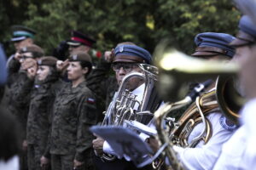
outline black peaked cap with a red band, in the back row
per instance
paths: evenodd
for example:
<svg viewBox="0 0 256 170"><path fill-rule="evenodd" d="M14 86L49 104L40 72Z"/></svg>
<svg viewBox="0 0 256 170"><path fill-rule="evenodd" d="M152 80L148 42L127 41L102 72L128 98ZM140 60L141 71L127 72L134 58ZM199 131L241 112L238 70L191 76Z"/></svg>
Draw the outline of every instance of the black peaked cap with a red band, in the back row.
<svg viewBox="0 0 256 170"><path fill-rule="evenodd" d="M92 45L95 42L96 41L93 38L91 38L87 35L84 35L83 33L79 32L79 31L72 31L71 40L68 40L67 44L71 45L71 46L86 45L86 46L92 47Z"/></svg>

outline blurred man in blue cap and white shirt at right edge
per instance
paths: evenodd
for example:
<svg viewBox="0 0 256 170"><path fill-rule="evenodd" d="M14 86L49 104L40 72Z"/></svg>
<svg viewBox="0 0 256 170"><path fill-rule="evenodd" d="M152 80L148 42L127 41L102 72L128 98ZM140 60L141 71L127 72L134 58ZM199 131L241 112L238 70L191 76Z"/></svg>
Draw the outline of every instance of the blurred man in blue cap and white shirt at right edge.
<svg viewBox="0 0 256 170"><path fill-rule="evenodd" d="M239 22L240 31L236 40L230 43L236 47L234 58L241 63L240 81L249 99L241 110L241 120L234 135L223 145L221 155L214 169L255 169L255 64L256 64L256 23L248 15Z"/></svg>

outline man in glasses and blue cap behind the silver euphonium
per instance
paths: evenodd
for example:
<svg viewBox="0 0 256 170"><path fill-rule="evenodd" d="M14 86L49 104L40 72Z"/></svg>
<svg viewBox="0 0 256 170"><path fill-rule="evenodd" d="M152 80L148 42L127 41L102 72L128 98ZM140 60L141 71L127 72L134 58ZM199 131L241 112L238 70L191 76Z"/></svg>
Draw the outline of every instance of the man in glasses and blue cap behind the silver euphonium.
<svg viewBox="0 0 256 170"><path fill-rule="evenodd" d="M113 59L113 71L115 71L115 76L119 86L125 77L132 71L143 72L138 64L150 64L151 55L144 48L140 48L134 44L119 44L114 49L114 59ZM132 77L127 83L127 87L132 94L137 95L137 100L142 101L143 91L145 85L143 80L138 77ZM111 105L111 104L110 104ZM133 110L137 110L137 105L135 105ZM101 156L103 153L115 155L114 150L110 147L107 141L104 139L97 138L93 140L93 147L96 150L96 154ZM127 159L127 158L126 158ZM131 161L125 161L125 159L115 159L113 161L102 162L99 158L96 158L96 164L99 169L108 170L130 170L137 169Z"/></svg>

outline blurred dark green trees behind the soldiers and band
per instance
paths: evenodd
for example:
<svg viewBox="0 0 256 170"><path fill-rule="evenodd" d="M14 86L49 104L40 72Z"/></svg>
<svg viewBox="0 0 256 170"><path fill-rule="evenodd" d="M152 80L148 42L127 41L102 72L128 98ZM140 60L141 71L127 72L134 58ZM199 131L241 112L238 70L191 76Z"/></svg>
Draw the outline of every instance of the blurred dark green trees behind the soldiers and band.
<svg viewBox="0 0 256 170"><path fill-rule="evenodd" d="M236 35L240 13L230 0L9 0L0 3L0 40L8 42L12 25L38 31L46 54L79 30L94 37L101 51L118 42L135 42L150 52L161 39L191 54L203 31ZM14 52L9 44L8 54Z"/></svg>

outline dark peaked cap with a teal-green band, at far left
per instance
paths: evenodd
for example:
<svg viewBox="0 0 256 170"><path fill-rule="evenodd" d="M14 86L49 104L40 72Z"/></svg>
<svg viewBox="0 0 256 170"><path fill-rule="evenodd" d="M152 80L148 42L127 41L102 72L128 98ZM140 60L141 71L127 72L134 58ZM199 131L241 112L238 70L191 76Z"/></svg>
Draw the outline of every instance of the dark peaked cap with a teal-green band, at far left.
<svg viewBox="0 0 256 170"><path fill-rule="evenodd" d="M36 35L36 31L33 31L31 28L28 28L26 26L12 26L12 30L12 42L19 42L25 40L27 37L34 38L34 36Z"/></svg>

